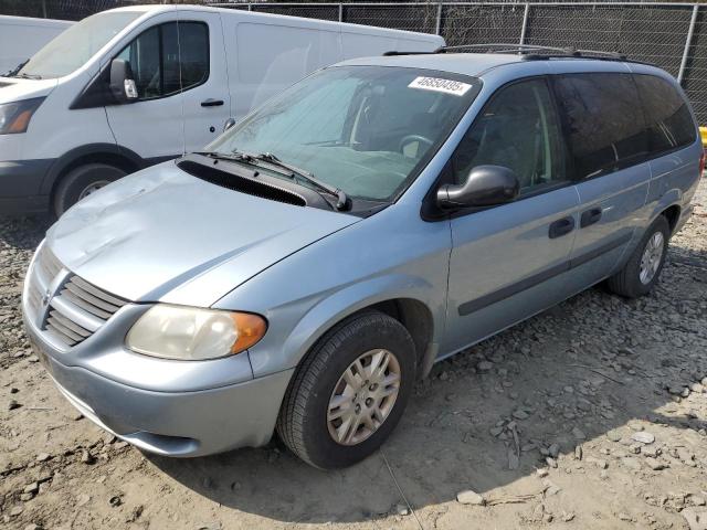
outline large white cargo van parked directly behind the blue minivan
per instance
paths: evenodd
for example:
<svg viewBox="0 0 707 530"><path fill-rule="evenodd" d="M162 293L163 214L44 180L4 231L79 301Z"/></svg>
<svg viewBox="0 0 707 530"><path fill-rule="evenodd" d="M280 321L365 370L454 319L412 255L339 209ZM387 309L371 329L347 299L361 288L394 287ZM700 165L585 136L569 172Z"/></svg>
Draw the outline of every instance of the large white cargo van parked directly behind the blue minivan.
<svg viewBox="0 0 707 530"><path fill-rule="evenodd" d="M88 17L0 77L0 213L61 215L96 189L198 150L310 72L436 35L203 7Z"/></svg>

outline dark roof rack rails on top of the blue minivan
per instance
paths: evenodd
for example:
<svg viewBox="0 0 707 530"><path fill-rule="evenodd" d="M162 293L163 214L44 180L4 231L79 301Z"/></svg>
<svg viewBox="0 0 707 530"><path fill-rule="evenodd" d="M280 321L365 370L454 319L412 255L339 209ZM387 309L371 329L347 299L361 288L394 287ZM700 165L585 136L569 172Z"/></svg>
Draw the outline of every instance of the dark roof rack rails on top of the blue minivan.
<svg viewBox="0 0 707 530"><path fill-rule="evenodd" d="M632 61L621 52L606 52L602 50L578 50L574 47L542 46L536 44L516 44L516 43L484 43L484 44L461 44L455 46L442 46L432 52L386 52L383 55L422 55L435 53L515 53L521 55L524 60L544 60L544 59L597 59L601 61Z"/></svg>

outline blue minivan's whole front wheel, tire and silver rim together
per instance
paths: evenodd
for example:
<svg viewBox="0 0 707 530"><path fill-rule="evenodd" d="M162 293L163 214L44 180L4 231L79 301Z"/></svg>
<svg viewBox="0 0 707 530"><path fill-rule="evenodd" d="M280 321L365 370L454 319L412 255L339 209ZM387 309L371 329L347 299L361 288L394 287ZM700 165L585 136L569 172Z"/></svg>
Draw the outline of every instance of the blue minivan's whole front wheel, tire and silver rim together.
<svg viewBox="0 0 707 530"><path fill-rule="evenodd" d="M403 325L379 311L355 315L307 354L285 394L277 432L315 467L350 466L390 435L414 381L415 347Z"/></svg>

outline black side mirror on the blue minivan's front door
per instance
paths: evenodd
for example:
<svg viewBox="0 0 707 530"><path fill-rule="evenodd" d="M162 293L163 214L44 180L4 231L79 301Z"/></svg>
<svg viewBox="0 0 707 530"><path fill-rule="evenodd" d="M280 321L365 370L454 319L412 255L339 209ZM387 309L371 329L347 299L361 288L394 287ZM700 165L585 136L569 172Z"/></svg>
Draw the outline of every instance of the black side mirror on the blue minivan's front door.
<svg viewBox="0 0 707 530"><path fill-rule="evenodd" d="M503 166L477 166L463 184L443 184L437 190L437 205L443 210L464 206L493 206L518 197L516 173Z"/></svg>

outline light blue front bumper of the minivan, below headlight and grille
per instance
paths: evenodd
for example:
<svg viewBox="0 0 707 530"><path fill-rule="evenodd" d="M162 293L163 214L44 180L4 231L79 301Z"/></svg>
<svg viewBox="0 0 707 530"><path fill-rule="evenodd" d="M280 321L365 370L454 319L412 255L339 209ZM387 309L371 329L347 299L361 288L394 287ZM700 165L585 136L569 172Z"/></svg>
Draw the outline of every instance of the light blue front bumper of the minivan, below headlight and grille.
<svg viewBox="0 0 707 530"><path fill-rule="evenodd" d="M198 392L154 392L65 367L35 344L64 396L98 426L140 449L191 457L266 444L292 370Z"/></svg>

